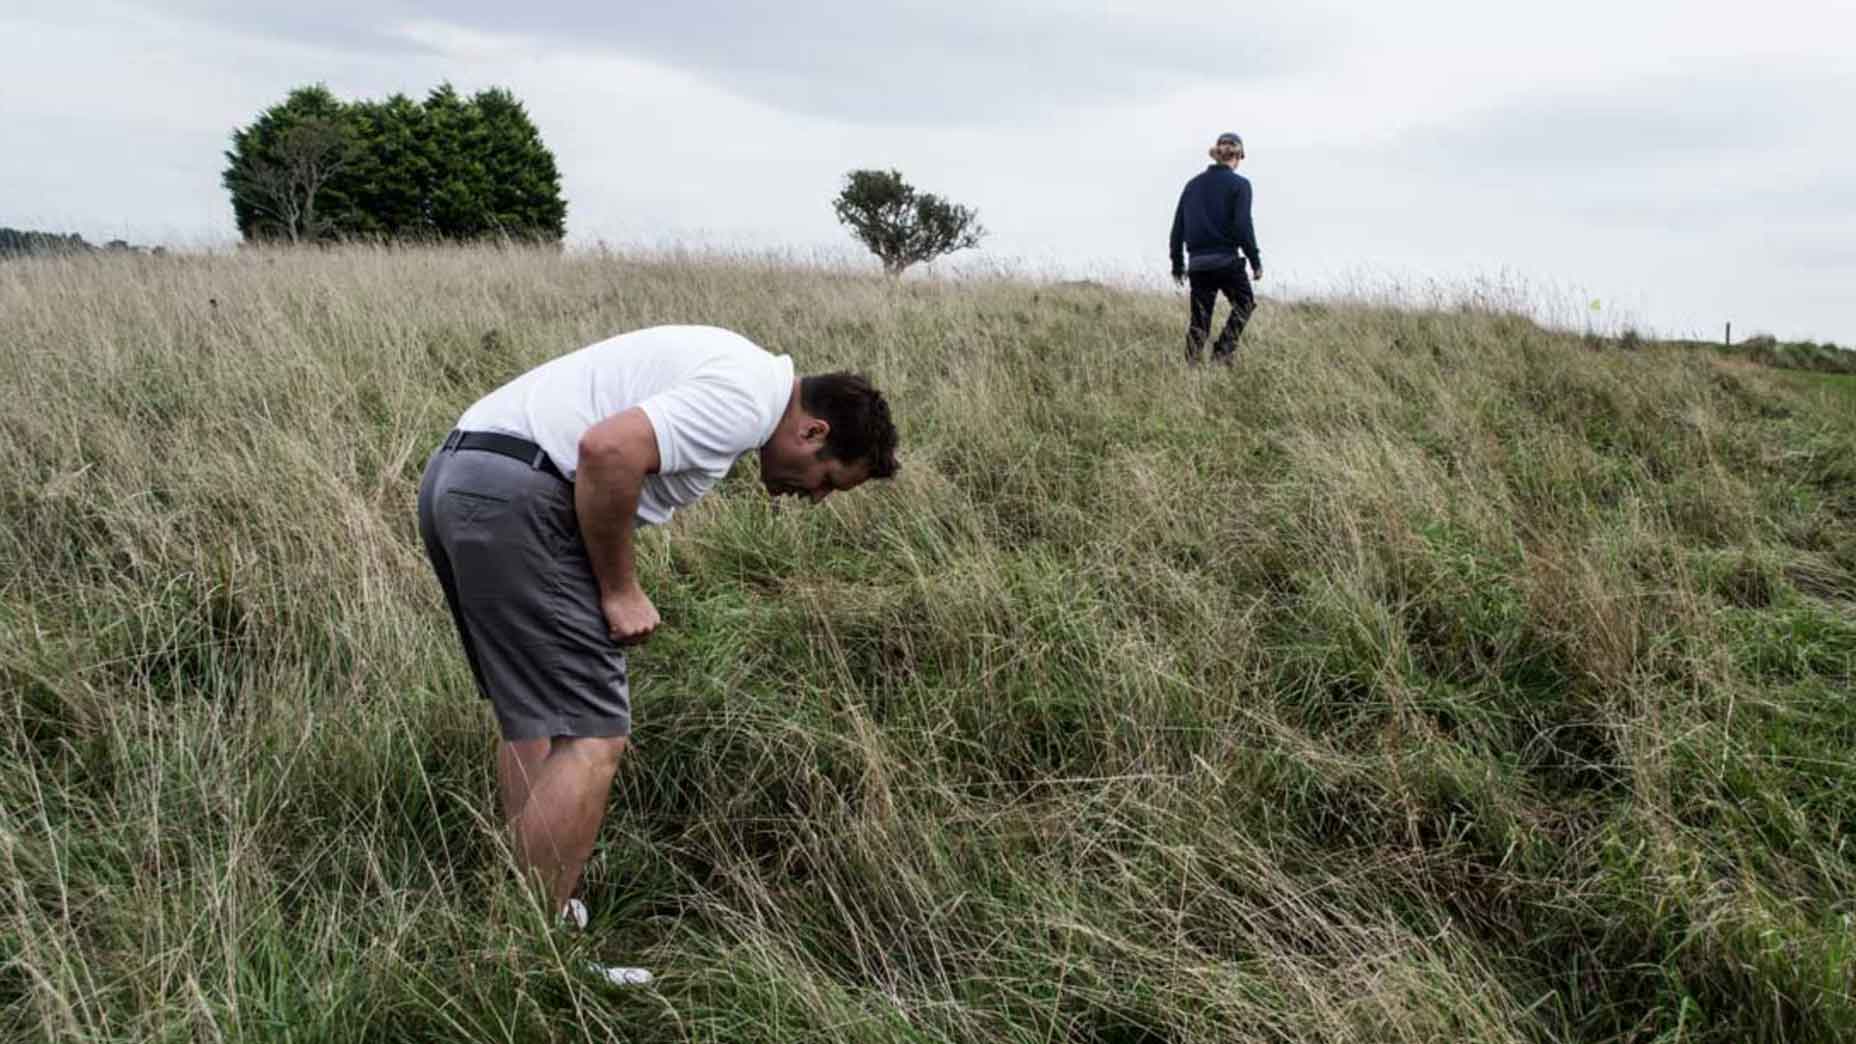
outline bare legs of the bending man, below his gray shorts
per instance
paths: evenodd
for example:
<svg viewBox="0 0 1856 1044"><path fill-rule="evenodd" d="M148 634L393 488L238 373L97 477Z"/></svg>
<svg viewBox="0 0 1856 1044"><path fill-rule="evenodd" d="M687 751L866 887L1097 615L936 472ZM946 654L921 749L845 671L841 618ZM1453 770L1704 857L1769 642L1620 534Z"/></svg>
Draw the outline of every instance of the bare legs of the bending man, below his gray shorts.
<svg viewBox="0 0 1856 1044"><path fill-rule="evenodd" d="M536 743L548 743L536 758ZM525 739L505 743L497 754L503 810L516 838L516 860L548 890L553 908L566 905L592 855L612 773L629 741L614 737ZM523 793L525 791L525 793Z"/></svg>

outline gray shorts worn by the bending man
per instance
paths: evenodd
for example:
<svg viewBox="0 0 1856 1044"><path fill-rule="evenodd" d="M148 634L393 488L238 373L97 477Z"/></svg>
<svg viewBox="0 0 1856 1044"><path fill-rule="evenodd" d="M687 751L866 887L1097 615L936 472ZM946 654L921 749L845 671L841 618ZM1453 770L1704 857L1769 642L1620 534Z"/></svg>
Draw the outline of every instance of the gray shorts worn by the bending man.
<svg viewBox="0 0 1856 1044"><path fill-rule="evenodd" d="M438 450L419 537L503 739L631 736L625 654L574 515L574 487L510 457Z"/></svg>

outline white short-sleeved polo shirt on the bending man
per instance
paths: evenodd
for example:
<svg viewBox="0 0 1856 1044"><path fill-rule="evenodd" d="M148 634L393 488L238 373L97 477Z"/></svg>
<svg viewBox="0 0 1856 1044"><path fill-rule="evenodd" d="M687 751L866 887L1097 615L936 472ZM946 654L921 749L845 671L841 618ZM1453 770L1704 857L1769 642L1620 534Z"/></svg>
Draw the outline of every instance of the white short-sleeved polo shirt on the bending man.
<svg viewBox="0 0 1856 1044"><path fill-rule="evenodd" d="M570 479L579 438L631 407L657 431L659 470L644 477L638 524L670 520L757 450L793 399L793 357L718 327L650 327L548 360L464 411L464 431L540 446Z"/></svg>

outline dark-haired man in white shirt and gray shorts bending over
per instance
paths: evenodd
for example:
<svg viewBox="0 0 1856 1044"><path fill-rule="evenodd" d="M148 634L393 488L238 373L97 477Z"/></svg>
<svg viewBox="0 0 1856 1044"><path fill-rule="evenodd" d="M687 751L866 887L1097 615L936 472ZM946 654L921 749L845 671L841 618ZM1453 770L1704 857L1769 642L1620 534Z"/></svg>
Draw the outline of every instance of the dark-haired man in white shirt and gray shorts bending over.
<svg viewBox="0 0 1856 1044"><path fill-rule="evenodd" d="M896 470L869 381L794 377L791 357L715 327L544 362L464 411L425 466L419 535L501 728L503 821L562 916L585 918L570 897L629 745L622 646L659 626L633 529L666 522L750 450L770 496L813 503Z"/></svg>

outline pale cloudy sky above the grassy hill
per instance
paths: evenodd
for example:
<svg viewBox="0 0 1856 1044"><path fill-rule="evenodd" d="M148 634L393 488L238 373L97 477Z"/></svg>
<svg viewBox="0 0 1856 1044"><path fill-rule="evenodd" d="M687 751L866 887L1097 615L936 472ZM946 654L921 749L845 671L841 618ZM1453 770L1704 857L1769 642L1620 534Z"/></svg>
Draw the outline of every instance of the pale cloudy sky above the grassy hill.
<svg viewBox="0 0 1856 1044"><path fill-rule="evenodd" d="M1856 6L1244 7L4 0L0 225L225 243L234 126L303 84L451 82L527 104L575 243L854 258L830 199L896 167L991 230L954 268L1164 281L1179 186L1236 130L1266 294L1856 344Z"/></svg>

